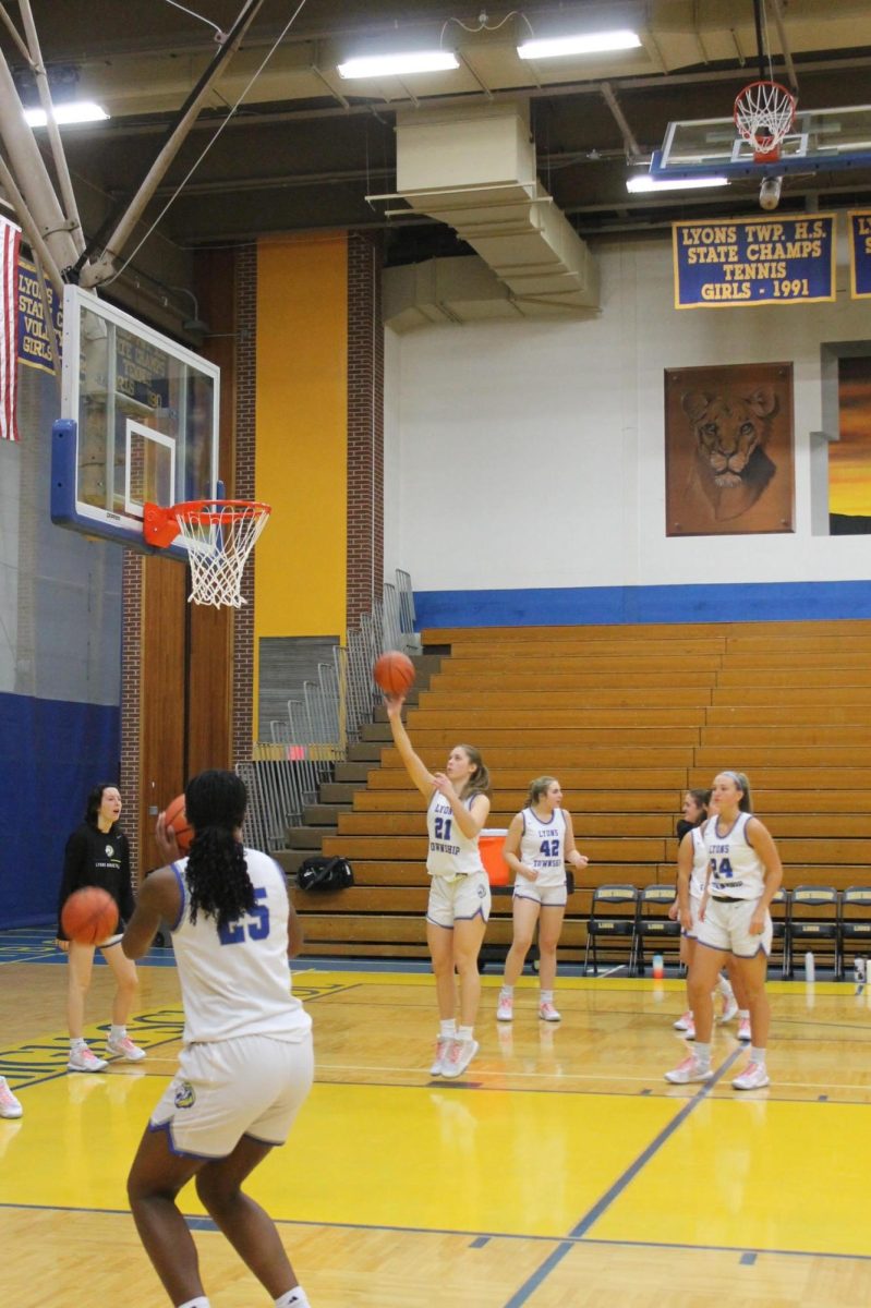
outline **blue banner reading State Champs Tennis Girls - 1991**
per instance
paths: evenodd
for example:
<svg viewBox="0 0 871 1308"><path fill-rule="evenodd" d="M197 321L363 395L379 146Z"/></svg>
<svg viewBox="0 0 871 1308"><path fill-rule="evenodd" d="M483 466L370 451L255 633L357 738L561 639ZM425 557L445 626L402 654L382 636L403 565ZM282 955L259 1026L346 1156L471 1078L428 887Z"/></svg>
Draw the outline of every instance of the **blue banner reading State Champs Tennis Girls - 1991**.
<svg viewBox="0 0 871 1308"><path fill-rule="evenodd" d="M834 215L672 224L675 309L834 300Z"/></svg>

